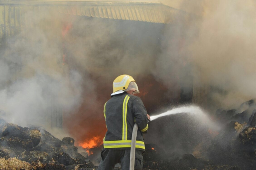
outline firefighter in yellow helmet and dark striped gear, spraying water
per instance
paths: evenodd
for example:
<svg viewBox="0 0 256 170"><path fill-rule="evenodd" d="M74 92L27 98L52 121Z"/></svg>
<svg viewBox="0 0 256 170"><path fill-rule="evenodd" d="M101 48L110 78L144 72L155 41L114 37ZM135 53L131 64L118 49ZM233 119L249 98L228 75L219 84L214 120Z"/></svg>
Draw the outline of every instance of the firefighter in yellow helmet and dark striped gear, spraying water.
<svg viewBox="0 0 256 170"><path fill-rule="evenodd" d="M104 105L107 132L98 170L114 169L120 162L122 170L130 169L132 129L135 123L138 124L135 170L142 169L142 153L145 151L142 133L148 131L150 116L140 97L133 96L136 93L140 92L132 76L124 74L114 80L111 99Z"/></svg>

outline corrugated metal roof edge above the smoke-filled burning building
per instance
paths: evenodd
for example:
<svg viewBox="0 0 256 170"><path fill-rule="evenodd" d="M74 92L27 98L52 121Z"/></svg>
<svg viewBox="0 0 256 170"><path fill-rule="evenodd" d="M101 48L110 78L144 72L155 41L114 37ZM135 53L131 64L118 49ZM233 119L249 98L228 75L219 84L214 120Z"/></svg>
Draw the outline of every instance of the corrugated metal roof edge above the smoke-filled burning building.
<svg viewBox="0 0 256 170"><path fill-rule="evenodd" d="M5 8L28 8L36 11L38 8L48 8L58 13L154 23L168 23L173 20L178 10L161 3L136 2L72 2L72 1L14 1L2 0L1 13ZM6 12L4 12L6 13Z"/></svg>

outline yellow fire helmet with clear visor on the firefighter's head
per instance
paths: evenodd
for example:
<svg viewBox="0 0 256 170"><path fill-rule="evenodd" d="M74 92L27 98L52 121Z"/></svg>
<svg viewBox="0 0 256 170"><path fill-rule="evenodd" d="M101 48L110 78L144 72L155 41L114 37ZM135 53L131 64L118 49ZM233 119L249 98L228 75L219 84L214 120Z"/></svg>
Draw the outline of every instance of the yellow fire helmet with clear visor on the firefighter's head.
<svg viewBox="0 0 256 170"><path fill-rule="evenodd" d="M133 94L140 93L135 80L130 75L120 75L116 77L116 79L113 82L113 93L115 93L118 90L128 91L132 89L134 90Z"/></svg>

